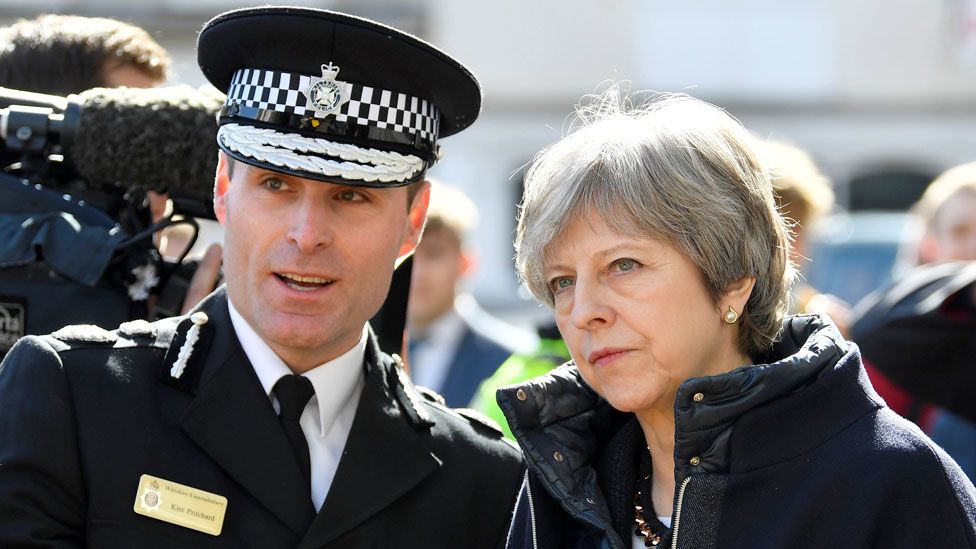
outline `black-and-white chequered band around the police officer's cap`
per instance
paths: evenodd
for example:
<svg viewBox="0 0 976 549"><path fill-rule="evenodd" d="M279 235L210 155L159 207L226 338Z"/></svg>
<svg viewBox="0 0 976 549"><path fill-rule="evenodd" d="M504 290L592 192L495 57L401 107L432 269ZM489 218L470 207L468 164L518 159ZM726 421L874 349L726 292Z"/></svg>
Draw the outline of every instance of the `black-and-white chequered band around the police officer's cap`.
<svg viewBox="0 0 976 549"><path fill-rule="evenodd" d="M314 116L304 90L311 77L262 69L239 69L227 91L227 105L242 105L296 116ZM430 147L437 140L440 113L426 99L350 82L344 86L349 100L332 116L337 122L419 135Z"/></svg>

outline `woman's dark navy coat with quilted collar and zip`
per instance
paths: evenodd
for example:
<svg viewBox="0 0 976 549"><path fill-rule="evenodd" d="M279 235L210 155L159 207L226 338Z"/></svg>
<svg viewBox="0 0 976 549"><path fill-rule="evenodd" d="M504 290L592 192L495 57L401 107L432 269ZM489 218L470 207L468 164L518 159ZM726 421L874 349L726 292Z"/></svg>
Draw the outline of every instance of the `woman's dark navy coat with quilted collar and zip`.
<svg viewBox="0 0 976 549"><path fill-rule="evenodd" d="M976 547L976 489L888 409L828 320L787 319L762 358L678 389L662 546ZM572 363L498 401L529 464L508 547L630 548L645 446L634 416Z"/></svg>

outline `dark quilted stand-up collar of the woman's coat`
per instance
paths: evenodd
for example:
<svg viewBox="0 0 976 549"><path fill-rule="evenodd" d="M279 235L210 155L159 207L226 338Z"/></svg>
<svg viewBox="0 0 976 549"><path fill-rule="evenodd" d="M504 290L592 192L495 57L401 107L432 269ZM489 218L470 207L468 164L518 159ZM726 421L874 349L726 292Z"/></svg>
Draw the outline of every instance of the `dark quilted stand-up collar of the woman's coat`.
<svg viewBox="0 0 976 549"><path fill-rule="evenodd" d="M862 375L857 348L844 341L823 317L787 319L780 341L761 358L767 362L692 378L679 387L675 399L675 477L679 483L689 474L724 473L739 467L739 463L730 465L740 458L738 452L750 456L742 459L743 466L771 463L768 459L819 444L832 436L830 429L847 425L881 405ZM820 379L825 383L815 383ZM820 410L822 403L816 399L844 386L844 395L857 404ZM696 401L698 393L702 397ZM592 507L583 502L593 497L591 488L598 484L593 463L631 415L614 410L586 385L572 363L501 389L498 400L526 459L543 473L540 476L549 481L554 495L578 502L581 509ZM817 418L818 431L795 423L795 410L807 407L813 412L803 415ZM779 420L769 417L767 410L776 410ZM773 453L750 452L744 432L764 433L764 439L783 437L785 443ZM797 436L806 437L803 444L792 443ZM735 459L733 451L738 451ZM553 452L563 459L553 460ZM692 457L698 458L697 465L691 465Z"/></svg>

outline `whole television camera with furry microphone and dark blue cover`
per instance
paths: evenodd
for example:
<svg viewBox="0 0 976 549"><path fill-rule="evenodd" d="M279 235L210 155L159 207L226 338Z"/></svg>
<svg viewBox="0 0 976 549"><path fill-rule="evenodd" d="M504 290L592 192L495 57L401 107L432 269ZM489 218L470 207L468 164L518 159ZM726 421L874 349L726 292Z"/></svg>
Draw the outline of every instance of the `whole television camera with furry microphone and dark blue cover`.
<svg viewBox="0 0 976 549"><path fill-rule="evenodd" d="M213 218L222 100L187 86L0 88L0 358L25 334L179 314L194 218ZM149 191L172 212L153 219ZM181 224L190 242L166 260L158 235Z"/></svg>

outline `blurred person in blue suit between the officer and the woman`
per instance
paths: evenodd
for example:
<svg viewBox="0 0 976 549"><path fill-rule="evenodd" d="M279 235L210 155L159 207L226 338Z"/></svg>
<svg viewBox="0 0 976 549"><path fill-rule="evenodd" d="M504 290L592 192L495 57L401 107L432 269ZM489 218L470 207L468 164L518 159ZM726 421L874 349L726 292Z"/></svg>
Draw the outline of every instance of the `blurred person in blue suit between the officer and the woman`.
<svg viewBox="0 0 976 549"><path fill-rule="evenodd" d="M423 238L413 255L407 307L413 381L467 406L482 380L535 341L488 314L463 291L476 260L468 237L478 209L460 190L432 182Z"/></svg>

